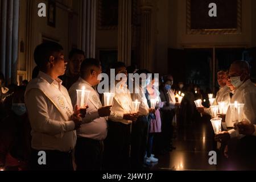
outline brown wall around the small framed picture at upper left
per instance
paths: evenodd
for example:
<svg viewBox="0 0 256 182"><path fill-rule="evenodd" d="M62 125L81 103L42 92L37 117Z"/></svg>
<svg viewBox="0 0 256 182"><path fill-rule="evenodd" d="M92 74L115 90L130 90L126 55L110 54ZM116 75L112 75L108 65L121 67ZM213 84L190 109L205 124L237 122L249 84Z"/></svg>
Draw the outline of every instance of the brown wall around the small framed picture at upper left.
<svg viewBox="0 0 256 182"><path fill-rule="evenodd" d="M50 27L47 25L47 17L40 18L38 16L38 4L39 3L46 3L45 0L34 0L32 1L32 9L28 10L27 8L27 0L21 0L20 1L20 25L19 25L19 42L23 40L25 52L21 53L19 52L19 64L18 69L20 71L27 71L26 65L31 65L30 69L33 69L35 67L34 60L32 60L32 53L35 47L42 43L42 37L49 38L50 40L56 40L59 42L63 48L64 48L64 56L66 59L68 59L68 52L70 51L72 45L78 46L78 35L79 35L79 22L78 22L78 11L79 6L77 5L79 1L61 1L64 4L56 3L56 27ZM75 11L73 14L73 21L72 21L72 27L69 27L69 11L67 9L67 6L74 7ZM28 24L28 17L27 17L27 11L32 11L32 33L31 35L27 35L27 24ZM76 28L77 27L77 28ZM31 49L32 52L30 53L29 60L26 60L26 54L29 53L29 50L26 49L26 46L28 44L27 36L31 38ZM30 64L31 63L31 64ZM27 78L30 79L30 71L27 72L28 76Z"/></svg>

